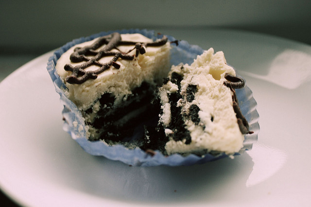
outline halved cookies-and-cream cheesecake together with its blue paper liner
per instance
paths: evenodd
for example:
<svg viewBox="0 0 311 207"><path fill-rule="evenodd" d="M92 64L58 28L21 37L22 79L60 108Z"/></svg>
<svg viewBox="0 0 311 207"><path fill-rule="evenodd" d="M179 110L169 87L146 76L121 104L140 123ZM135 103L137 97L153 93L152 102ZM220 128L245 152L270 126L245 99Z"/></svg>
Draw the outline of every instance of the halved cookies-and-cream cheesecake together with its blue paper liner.
<svg viewBox="0 0 311 207"><path fill-rule="evenodd" d="M190 165L242 153L257 140L256 101L213 48L147 30L102 32L55 51L47 68L64 130L92 155Z"/></svg>

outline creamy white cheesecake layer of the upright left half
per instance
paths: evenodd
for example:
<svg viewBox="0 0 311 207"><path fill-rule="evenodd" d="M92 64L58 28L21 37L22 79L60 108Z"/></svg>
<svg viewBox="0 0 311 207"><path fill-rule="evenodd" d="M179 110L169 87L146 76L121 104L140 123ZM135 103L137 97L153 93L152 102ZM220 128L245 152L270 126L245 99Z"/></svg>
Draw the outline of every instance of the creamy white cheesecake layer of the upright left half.
<svg viewBox="0 0 311 207"><path fill-rule="evenodd" d="M121 34L124 41L134 42L152 42L151 39L141 34ZM70 54L74 48L91 45L96 39L88 41L79 45L75 45L66 51L58 59L55 66L57 73L64 80L68 88L68 97L72 100L80 110L88 109L95 100L100 98L104 93L112 93L116 96L115 104L121 103L124 96L131 94L132 89L138 87L142 81L153 83L155 81L162 81L170 70L170 43L161 47L147 47L146 53L134 58L132 61L122 60L117 61L121 65L119 69L111 66L109 69L98 75L95 80L86 80L82 84L69 84L65 81L66 77L71 74L70 71L64 70L65 64L73 66L82 63L71 63L69 60ZM103 46L104 47L104 46ZM101 48L103 48L101 47ZM100 50L98 48L97 50ZM129 51L134 46L120 46L121 51ZM135 54L135 50L129 53ZM107 63L112 59L111 56L104 57L99 62ZM86 69L96 70L99 66L92 65Z"/></svg>

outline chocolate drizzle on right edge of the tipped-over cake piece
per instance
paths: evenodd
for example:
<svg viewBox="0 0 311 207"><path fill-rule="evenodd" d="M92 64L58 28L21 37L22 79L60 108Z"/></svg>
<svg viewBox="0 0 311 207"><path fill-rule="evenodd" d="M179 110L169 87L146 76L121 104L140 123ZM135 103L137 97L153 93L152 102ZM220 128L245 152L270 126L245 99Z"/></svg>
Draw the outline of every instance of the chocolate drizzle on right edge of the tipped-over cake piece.
<svg viewBox="0 0 311 207"><path fill-rule="evenodd" d="M239 125L241 133L242 134L254 133L253 131L249 131L248 122L241 112L241 109L240 109L239 103L238 103L238 98L237 98L237 95L236 95L235 90L234 90L237 88L243 88L245 85L244 80L239 78L239 77L232 76L228 73L225 74L225 79L226 80L224 81L224 85L227 86L228 88L230 88L230 90L233 93L233 96L232 96L233 110L236 113L236 117L238 120L238 125Z"/></svg>

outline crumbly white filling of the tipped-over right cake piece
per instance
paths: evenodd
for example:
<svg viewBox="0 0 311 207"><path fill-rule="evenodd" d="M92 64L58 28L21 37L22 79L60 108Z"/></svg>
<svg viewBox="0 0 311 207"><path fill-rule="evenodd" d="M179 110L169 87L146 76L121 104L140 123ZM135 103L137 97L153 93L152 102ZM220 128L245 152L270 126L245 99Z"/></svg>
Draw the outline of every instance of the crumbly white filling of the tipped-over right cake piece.
<svg viewBox="0 0 311 207"><path fill-rule="evenodd" d="M210 48L197 56L191 65L172 66L170 74L173 72L183 74L181 91L177 93L181 93L184 97L188 85L197 85L197 92L191 103L186 99L180 99L177 103L182 107L184 114L188 113L190 105L197 105L200 108L198 113L200 123L195 124L189 116L184 116L186 128L190 131L191 143L186 144L185 140L174 141L170 138L165 146L167 153L200 153L206 150L226 154L239 152L243 146L244 136L232 107L232 92L223 84L225 73L235 76L235 71L226 64L224 53L220 51L214 54L213 48ZM169 108L167 94L172 93L172 90L175 90L175 86L170 81L160 89L163 109ZM167 120L170 119L171 113L163 110L161 121L164 127L168 126ZM165 129L165 132L170 134L168 129Z"/></svg>

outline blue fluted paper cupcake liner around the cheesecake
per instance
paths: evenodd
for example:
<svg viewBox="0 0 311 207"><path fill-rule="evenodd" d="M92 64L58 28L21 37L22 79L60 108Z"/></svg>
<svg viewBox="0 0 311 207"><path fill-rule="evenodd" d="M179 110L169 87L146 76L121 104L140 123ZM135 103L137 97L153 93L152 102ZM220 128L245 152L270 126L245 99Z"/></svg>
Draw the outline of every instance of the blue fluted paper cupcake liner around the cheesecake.
<svg viewBox="0 0 311 207"><path fill-rule="evenodd" d="M64 109L62 111L62 114L65 118L63 129L71 135L72 139L79 143L79 145L91 155L104 156L107 159L119 160L133 166L193 165L228 157L224 153L217 156L211 154L206 154L204 156L197 156L194 154L190 154L188 156L182 156L179 154L164 156L158 150L155 151L154 156L151 156L139 148L128 149L121 144L111 146L102 141L90 142L86 139L86 126L84 118L82 117L82 114L78 110L77 106L65 96L66 86L57 74L55 70L55 65L59 57L74 45L90 41L92 39L110 34L112 32L140 33L153 40L156 40L163 36L162 34L155 34L154 31L138 29L101 32L90 35L88 37L74 39L73 41L67 43L66 45L54 52L53 56L49 58L47 70L52 78L56 92L60 95L61 104L64 105ZM166 36L168 37L169 41L173 42L176 40L172 36ZM174 46L174 44L172 44L171 64L191 64L193 60L196 59L197 55L201 55L203 52L204 50L199 46L190 45L188 42L183 40L178 41L178 46ZM252 95L252 91L246 85L243 89L237 89L236 94L239 100L241 111L249 122L249 130L254 131L253 134L247 134L244 136L245 140L243 142L243 148L240 150L239 153L235 154L239 155L242 154L245 150L251 149L252 144L257 142L258 140L259 114L256 110L257 103Z"/></svg>

